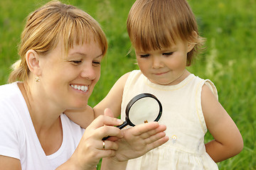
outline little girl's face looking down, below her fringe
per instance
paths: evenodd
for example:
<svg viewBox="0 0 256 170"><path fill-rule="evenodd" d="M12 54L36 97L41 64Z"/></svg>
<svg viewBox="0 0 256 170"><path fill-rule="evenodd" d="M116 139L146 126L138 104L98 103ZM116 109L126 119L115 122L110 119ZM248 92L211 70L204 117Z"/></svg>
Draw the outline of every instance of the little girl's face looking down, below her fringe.
<svg viewBox="0 0 256 170"><path fill-rule="evenodd" d="M174 85L185 79L187 53L192 49L188 42L178 41L166 49L135 53L139 69L151 82Z"/></svg>

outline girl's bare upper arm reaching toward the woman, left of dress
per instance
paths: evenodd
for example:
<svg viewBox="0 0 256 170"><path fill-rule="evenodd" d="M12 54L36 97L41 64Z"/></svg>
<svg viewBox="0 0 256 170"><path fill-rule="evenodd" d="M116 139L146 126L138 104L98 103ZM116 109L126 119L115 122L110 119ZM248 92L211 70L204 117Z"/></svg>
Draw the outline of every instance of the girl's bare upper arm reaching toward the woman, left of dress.
<svg viewBox="0 0 256 170"><path fill-rule="evenodd" d="M129 73L120 77L117 82L112 86L112 89L107 96L100 101L94 108L95 118L104 114L105 108L110 108L114 114L114 118L117 118L121 113L122 94L124 91L124 85L129 77Z"/></svg>

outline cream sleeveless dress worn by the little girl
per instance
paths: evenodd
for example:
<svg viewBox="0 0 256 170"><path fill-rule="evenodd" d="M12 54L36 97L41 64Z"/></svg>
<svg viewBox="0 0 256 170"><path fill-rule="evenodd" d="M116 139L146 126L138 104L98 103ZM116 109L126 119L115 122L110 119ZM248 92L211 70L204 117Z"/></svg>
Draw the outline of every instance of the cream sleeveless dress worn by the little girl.
<svg viewBox="0 0 256 170"><path fill-rule="evenodd" d="M156 96L163 106L160 124L166 125L170 140L144 156L129 160L128 170L215 170L217 164L206 153L206 123L201 108L201 90L206 84L218 98L210 80L190 74L174 86L154 84L140 70L134 70L124 86L121 118L125 120L127 103L138 94ZM143 113L142 113L143 114Z"/></svg>

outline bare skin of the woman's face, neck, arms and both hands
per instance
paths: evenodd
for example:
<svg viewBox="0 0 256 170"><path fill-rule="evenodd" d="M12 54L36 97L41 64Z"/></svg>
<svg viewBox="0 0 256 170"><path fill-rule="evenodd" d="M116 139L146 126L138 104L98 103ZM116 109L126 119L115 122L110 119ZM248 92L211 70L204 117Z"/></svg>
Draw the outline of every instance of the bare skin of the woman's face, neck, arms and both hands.
<svg viewBox="0 0 256 170"><path fill-rule="evenodd" d="M28 50L26 62L30 73L27 81L18 83L46 155L58 151L62 144L60 114L68 109L88 111L88 98L100 79L102 51L97 42L74 45L68 55L64 55L62 47L59 43L44 56ZM39 82L35 81L36 77L40 77ZM93 113L85 115L88 120L94 119ZM168 140L163 132L166 129L164 125L149 123L127 130L125 135L124 131L114 127L121 125L122 121L112 117L112 112L107 109L90 121L89 126L86 124L85 133L72 157L57 169L95 169L101 158L107 158L103 159L102 169L124 169L128 159L140 157ZM103 149L102 138L106 136L114 139L105 141ZM140 147L134 147L134 144ZM126 154L132 149L136 152ZM0 166L6 170L20 170L21 162L0 156Z"/></svg>

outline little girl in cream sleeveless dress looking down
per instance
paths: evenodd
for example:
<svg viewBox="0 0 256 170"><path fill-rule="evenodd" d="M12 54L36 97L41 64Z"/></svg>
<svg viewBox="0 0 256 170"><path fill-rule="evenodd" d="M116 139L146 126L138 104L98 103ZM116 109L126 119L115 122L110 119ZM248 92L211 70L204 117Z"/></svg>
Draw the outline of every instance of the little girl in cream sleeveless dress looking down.
<svg viewBox="0 0 256 170"><path fill-rule="evenodd" d="M161 147L129 160L127 169L214 170L215 162L241 152L242 137L218 102L214 84L186 69L203 42L186 0L137 0L127 30L140 70L124 74L114 84L95 106L95 117L110 108L124 120L134 96L154 94L163 106L159 123L167 126L170 137ZM214 140L205 144L207 130Z"/></svg>

